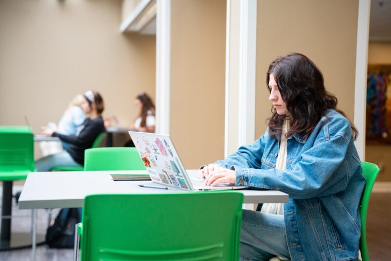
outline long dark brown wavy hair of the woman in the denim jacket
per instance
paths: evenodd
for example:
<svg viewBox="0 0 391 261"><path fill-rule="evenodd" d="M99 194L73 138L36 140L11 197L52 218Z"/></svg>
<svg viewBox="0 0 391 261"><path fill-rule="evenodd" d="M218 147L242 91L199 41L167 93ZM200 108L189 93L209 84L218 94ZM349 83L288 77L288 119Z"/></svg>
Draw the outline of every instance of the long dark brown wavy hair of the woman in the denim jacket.
<svg viewBox="0 0 391 261"><path fill-rule="evenodd" d="M282 132L282 122L286 118L290 119L286 137L301 134L304 139L311 134L328 109L336 110L347 118L344 112L337 109L337 97L326 91L322 72L304 54L290 53L274 60L267 71L268 89L271 73L290 114L278 115L272 107L273 115L268 119L271 137L278 139ZM358 131L350 120L349 122L355 140Z"/></svg>

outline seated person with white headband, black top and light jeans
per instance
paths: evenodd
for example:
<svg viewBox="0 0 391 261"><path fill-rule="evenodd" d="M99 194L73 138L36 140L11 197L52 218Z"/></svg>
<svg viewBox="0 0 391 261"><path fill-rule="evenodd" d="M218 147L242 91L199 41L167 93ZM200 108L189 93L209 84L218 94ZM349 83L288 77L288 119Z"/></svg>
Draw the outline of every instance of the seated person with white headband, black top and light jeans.
<svg viewBox="0 0 391 261"><path fill-rule="evenodd" d="M50 171L55 166L83 166L84 151L92 147L99 134L105 132L102 119L104 103L102 96L96 91L87 91L80 107L88 117L82 125L77 127L75 135L64 135L54 132L52 129L43 130L46 136L58 137L62 142L70 146L66 151L43 157L35 162L38 171Z"/></svg>

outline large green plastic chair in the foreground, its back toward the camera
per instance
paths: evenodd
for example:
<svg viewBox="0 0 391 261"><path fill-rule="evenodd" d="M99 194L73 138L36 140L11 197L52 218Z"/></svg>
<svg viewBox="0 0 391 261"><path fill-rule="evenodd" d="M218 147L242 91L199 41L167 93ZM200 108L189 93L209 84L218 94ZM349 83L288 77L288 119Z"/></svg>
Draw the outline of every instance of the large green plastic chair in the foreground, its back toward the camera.
<svg viewBox="0 0 391 261"><path fill-rule="evenodd" d="M88 195L81 261L239 260L242 203L237 191Z"/></svg>

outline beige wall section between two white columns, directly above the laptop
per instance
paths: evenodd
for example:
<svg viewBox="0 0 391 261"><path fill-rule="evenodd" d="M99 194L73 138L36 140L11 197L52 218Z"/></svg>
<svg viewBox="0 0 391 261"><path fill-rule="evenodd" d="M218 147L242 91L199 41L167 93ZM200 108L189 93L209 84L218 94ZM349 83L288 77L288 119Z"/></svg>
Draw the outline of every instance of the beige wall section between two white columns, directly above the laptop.
<svg viewBox="0 0 391 261"><path fill-rule="evenodd" d="M171 2L170 134L186 168L224 157L225 0Z"/></svg>

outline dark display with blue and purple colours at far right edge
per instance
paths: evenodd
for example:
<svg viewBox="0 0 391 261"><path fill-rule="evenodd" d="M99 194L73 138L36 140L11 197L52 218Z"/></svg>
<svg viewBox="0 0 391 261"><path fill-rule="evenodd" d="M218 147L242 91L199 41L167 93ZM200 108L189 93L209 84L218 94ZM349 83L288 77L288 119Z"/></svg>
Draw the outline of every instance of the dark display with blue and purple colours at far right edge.
<svg viewBox="0 0 391 261"><path fill-rule="evenodd" d="M391 73L368 74L367 137L391 138Z"/></svg>

